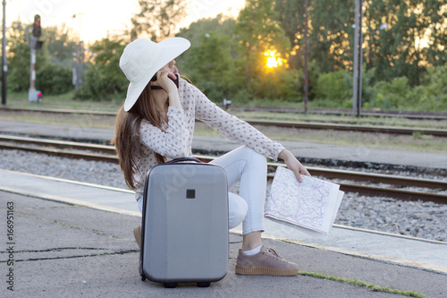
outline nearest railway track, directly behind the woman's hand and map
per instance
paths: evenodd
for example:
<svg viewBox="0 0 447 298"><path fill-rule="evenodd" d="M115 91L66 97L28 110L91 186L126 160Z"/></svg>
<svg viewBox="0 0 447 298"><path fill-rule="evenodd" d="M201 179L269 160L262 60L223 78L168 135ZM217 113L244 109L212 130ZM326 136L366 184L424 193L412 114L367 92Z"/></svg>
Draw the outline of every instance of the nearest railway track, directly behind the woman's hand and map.
<svg viewBox="0 0 447 298"><path fill-rule="evenodd" d="M0 135L0 149L19 149L54 155L64 158L82 158L86 160L117 163L118 158L113 146L79 143L73 141L44 140L37 138ZM195 155L205 162L213 157ZM269 163L270 172L274 172L280 163ZM447 195L437 193L447 190L447 181L413 178L401 175L382 175L340 169L328 169L308 166L311 175L334 179L341 185L343 192L358 192L367 196L384 196L399 200L428 200L447 204ZM273 175L269 175L272 179ZM349 181L349 182L345 182ZM380 185L385 184L385 185ZM429 189L431 191L412 191L405 187Z"/></svg>

